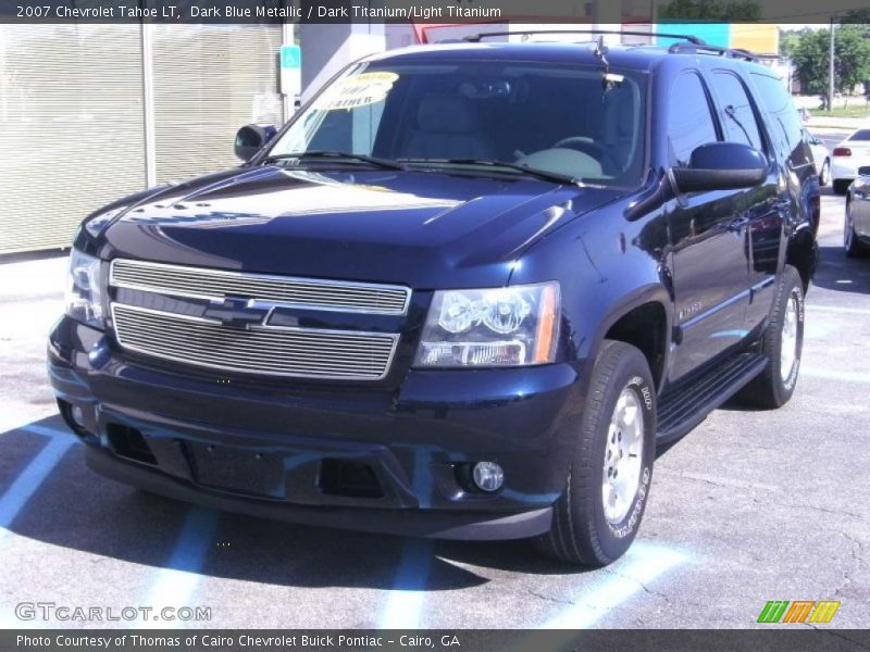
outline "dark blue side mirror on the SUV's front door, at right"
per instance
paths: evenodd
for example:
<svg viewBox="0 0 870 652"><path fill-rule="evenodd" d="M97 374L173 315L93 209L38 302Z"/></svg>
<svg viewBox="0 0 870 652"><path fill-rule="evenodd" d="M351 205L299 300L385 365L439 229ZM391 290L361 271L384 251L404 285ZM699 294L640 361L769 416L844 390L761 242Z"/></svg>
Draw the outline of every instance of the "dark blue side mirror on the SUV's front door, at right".
<svg viewBox="0 0 870 652"><path fill-rule="evenodd" d="M763 183L768 161L748 145L709 142L692 152L688 167L673 167L671 173L681 192L737 190Z"/></svg>

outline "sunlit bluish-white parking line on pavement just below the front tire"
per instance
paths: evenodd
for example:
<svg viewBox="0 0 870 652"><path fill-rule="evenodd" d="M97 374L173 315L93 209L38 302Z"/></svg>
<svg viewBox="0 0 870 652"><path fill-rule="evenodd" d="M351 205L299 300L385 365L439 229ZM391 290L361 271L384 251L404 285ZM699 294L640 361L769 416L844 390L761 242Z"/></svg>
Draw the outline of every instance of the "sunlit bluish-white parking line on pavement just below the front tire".
<svg viewBox="0 0 870 652"><path fill-rule="evenodd" d="M649 582L686 561L685 555L671 548L644 541L635 542L624 560L602 570L599 581L593 582L575 595L569 595L571 606L539 628L588 628L635 593L648 591Z"/></svg>

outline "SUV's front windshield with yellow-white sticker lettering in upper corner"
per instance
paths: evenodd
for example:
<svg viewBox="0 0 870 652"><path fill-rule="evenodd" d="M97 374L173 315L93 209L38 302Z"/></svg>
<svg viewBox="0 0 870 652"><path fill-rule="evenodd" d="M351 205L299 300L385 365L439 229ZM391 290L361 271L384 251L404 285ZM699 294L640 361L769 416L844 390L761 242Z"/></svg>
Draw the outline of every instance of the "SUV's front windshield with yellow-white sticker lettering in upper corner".
<svg viewBox="0 0 870 652"><path fill-rule="evenodd" d="M501 161L593 184L639 185L645 80L596 66L375 62L324 90L269 152L346 152L413 168ZM452 163L447 163L451 161ZM504 174L522 171L488 166Z"/></svg>

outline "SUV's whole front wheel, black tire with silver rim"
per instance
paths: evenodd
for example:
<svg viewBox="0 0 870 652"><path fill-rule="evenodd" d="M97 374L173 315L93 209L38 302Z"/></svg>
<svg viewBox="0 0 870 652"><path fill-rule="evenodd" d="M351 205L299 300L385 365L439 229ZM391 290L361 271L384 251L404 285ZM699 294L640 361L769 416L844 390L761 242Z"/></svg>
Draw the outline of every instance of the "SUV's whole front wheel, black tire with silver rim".
<svg viewBox="0 0 870 652"><path fill-rule="evenodd" d="M636 348L605 340L579 430L550 531L535 542L540 552L561 562L605 566L634 541L656 456L655 384Z"/></svg>

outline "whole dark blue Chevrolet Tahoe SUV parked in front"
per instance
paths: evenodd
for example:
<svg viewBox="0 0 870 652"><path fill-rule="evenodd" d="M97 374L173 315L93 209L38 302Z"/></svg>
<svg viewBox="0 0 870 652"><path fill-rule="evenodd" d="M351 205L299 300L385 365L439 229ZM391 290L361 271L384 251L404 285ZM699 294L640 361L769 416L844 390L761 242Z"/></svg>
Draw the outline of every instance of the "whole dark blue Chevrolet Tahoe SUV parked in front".
<svg viewBox="0 0 870 652"><path fill-rule="evenodd" d="M401 50L236 151L75 239L49 372L100 474L602 565L658 444L794 391L818 178L745 52Z"/></svg>

